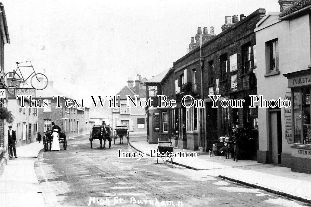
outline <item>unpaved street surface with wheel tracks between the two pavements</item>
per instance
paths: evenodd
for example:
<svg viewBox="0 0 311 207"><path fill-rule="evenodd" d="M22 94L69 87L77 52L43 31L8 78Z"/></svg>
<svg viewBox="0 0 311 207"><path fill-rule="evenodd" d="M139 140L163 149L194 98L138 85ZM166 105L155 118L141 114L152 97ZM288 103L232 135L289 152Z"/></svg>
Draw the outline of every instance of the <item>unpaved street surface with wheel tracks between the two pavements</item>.
<svg viewBox="0 0 311 207"><path fill-rule="evenodd" d="M106 150L99 143L94 140L91 149L88 136L79 136L68 139L66 151L61 145L61 151L40 152L35 170L48 206L311 206L204 170L156 164L155 158L118 158L118 149L137 151L118 140L110 150L107 142Z"/></svg>

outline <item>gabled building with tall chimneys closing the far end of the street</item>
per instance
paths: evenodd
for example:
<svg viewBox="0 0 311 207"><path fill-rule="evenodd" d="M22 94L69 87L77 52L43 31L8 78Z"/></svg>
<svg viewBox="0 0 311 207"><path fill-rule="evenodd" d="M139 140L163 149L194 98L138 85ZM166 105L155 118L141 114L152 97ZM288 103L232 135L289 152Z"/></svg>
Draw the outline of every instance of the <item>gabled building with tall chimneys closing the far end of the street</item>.
<svg viewBox="0 0 311 207"><path fill-rule="evenodd" d="M145 86L143 85L147 81L146 78L141 77L140 74L137 74L137 79L134 81L132 77L129 77L128 85L124 86L116 96L120 96L119 108L112 108L112 127L115 129L116 126L127 126L129 131L135 134L144 134L146 135L146 111L145 108L140 106L135 107L132 103L127 107L128 98L126 95L131 96L135 100L137 97L137 103L140 100L146 99ZM133 134L131 133L131 134Z"/></svg>

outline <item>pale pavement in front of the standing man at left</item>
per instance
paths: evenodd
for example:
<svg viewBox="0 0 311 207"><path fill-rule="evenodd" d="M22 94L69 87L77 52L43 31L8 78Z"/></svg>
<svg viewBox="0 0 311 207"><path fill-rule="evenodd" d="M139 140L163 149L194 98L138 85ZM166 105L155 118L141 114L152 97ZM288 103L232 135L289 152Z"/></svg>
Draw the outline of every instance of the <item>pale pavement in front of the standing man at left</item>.
<svg viewBox="0 0 311 207"><path fill-rule="evenodd" d="M8 159L0 175L0 207L45 206L34 168L41 149L42 142L16 147L17 158Z"/></svg>

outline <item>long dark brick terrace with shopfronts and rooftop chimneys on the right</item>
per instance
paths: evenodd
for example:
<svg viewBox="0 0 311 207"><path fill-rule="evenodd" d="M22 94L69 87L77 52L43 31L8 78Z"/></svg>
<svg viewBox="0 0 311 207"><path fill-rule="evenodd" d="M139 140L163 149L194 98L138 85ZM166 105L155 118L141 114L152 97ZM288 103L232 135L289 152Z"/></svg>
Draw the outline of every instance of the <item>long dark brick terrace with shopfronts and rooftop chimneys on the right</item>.
<svg viewBox="0 0 311 207"><path fill-rule="evenodd" d="M160 126L168 122L171 128L168 134L174 139L175 146L208 151L219 137L231 135L234 123L240 128L252 129L256 140L252 147L256 152L258 115L257 108L249 108L248 96L257 95L254 29L264 16L265 9L258 9L247 17L234 15L232 21L231 16L226 16L221 27L223 31L218 35L214 34L214 27L210 33L205 27L203 34L199 27L197 35L191 38L190 52L173 63L173 74L160 81L163 95L177 101L174 109L160 110ZM205 107L183 107L181 100L185 95L202 99ZM212 100L208 95L221 95L219 101L245 99L246 102L243 108L211 108ZM185 98L184 104L190 106L189 97ZM168 120L161 118L165 111ZM256 159L256 153L253 159Z"/></svg>

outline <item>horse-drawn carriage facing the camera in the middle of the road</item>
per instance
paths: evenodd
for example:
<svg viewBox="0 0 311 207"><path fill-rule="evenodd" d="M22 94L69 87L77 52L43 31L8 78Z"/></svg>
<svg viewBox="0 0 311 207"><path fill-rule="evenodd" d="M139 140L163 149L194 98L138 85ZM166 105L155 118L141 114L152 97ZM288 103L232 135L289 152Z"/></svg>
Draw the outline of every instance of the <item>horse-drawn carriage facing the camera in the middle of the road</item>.
<svg viewBox="0 0 311 207"><path fill-rule="evenodd" d="M109 141L109 149L111 146L111 130L109 126L105 126L105 130L103 130L102 125L94 125L92 130L90 131L90 142L91 148L93 148L93 140L99 139L100 141L100 149L105 149L106 140ZM103 140L104 140L104 147L103 147Z"/></svg>

